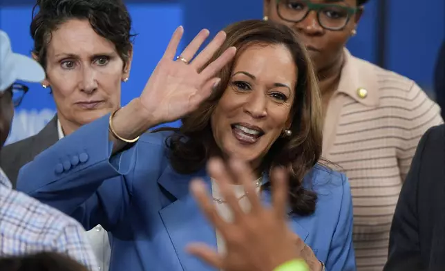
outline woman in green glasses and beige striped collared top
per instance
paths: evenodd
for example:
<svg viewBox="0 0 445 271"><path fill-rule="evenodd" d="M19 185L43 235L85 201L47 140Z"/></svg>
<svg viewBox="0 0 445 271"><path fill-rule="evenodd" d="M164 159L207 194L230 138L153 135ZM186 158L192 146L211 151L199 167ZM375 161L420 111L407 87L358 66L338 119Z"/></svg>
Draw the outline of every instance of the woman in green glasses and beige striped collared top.
<svg viewBox="0 0 445 271"><path fill-rule="evenodd" d="M264 0L265 19L299 33L319 79L323 152L347 174L354 204L357 269L382 270L401 185L439 107L415 82L353 57L366 0Z"/></svg>

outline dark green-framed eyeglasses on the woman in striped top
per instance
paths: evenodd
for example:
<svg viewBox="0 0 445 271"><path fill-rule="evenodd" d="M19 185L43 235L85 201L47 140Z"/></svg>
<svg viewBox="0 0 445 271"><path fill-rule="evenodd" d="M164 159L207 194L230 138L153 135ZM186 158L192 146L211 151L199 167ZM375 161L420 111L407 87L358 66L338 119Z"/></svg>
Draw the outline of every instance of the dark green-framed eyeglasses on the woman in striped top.
<svg viewBox="0 0 445 271"><path fill-rule="evenodd" d="M308 0L277 0L276 10L281 19L292 23L303 21L314 10L322 28L339 31L345 28L358 9L331 3L312 3Z"/></svg>

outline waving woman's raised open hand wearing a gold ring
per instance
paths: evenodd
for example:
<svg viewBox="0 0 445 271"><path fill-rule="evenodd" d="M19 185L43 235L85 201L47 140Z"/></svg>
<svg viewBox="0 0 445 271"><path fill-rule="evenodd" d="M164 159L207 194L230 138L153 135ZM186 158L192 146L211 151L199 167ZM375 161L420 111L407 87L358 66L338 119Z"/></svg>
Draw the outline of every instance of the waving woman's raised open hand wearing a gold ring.
<svg viewBox="0 0 445 271"><path fill-rule="evenodd" d="M180 26L173 33L164 56L151 74L140 102L146 111L147 118L153 122L171 122L198 108L199 104L211 94L218 84L214 77L235 55L236 48L228 48L214 62L201 72L214 53L225 41L225 32L218 35L194 59L196 52L209 36L208 30L201 32L176 59L176 50L184 29Z"/></svg>

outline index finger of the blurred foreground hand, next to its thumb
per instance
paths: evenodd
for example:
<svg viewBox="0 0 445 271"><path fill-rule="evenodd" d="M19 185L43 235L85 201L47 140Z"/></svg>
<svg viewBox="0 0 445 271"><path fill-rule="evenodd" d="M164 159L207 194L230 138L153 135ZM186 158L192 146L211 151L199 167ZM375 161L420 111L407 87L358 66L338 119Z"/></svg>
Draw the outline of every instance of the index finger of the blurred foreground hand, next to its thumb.
<svg viewBox="0 0 445 271"><path fill-rule="evenodd" d="M190 190L207 219L209 219L216 229L223 233L227 223L223 221L223 218L221 218L216 211L213 201L207 195L205 184L202 180L192 180L190 183Z"/></svg>

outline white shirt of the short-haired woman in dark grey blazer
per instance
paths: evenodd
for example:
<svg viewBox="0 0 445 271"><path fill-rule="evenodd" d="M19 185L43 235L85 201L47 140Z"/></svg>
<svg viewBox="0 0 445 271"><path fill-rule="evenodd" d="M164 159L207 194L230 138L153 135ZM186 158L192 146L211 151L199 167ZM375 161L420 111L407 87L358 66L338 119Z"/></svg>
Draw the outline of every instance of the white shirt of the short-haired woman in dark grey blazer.
<svg viewBox="0 0 445 271"><path fill-rule="evenodd" d="M64 131L61 129L61 124L57 119L57 133L59 134L59 140L64 138ZM97 258L99 266L97 270L106 271L110 266L111 247L108 241L108 234L101 225L97 225L93 230L85 232L85 236L90 241L90 245L93 248L93 252Z"/></svg>

